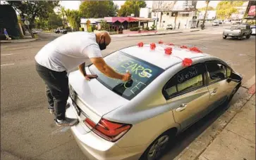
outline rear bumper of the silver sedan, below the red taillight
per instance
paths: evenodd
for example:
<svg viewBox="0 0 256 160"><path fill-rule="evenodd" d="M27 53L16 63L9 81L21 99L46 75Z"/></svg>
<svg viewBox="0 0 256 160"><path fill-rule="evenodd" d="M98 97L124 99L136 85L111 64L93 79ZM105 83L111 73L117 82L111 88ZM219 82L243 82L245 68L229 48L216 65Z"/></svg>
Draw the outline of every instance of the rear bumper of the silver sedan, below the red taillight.
<svg viewBox="0 0 256 160"><path fill-rule="evenodd" d="M68 98L68 101L71 99ZM70 118L78 118L75 107L71 106L66 109L66 116ZM89 129L89 128L88 128ZM113 160L113 159L133 159L137 153L126 152L126 149L118 147L117 142L109 142L100 138L92 131L85 131L83 121L79 121L78 125L71 127L73 136L78 146L90 160Z"/></svg>

